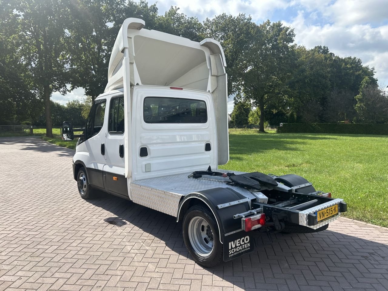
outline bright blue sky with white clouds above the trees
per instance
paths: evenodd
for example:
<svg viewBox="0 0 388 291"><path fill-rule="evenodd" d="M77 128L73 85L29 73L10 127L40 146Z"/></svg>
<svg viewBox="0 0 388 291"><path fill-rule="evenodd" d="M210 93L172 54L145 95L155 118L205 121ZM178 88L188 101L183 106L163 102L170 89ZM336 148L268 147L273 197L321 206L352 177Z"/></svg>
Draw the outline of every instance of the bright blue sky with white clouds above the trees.
<svg viewBox="0 0 388 291"><path fill-rule="evenodd" d="M380 85L388 85L388 0L158 0L157 6L159 14L177 6L200 21L223 12L245 13L256 23L280 20L294 28L298 45L307 49L326 45L340 57L359 57L375 68ZM66 104L83 99L83 94L82 88L65 96L55 92L52 100ZM232 109L233 98L229 98L229 113Z"/></svg>

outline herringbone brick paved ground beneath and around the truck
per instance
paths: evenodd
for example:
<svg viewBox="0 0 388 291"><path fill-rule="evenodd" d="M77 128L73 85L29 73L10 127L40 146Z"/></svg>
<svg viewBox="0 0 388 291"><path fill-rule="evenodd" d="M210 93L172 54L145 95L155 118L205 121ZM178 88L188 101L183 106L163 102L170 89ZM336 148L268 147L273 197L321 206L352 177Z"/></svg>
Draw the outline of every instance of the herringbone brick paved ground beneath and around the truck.
<svg viewBox="0 0 388 291"><path fill-rule="evenodd" d="M256 236L253 254L204 269L173 217L108 194L82 200L72 156L0 138L0 290L388 288L388 229L341 218L318 234Z"/></svg>

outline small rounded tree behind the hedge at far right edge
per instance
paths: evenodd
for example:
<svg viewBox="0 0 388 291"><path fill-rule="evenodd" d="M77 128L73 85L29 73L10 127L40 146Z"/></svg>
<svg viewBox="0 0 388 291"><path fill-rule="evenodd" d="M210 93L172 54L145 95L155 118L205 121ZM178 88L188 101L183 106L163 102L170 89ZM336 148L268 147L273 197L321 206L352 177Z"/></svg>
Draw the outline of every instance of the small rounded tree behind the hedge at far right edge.
<svg viewBox="0 0 388 291"><path fill-rule="evenodd" d="M374 80L365 77L355 99L357 104L354 107L360 121L365 123L388 122L388 97Z"/></svg>

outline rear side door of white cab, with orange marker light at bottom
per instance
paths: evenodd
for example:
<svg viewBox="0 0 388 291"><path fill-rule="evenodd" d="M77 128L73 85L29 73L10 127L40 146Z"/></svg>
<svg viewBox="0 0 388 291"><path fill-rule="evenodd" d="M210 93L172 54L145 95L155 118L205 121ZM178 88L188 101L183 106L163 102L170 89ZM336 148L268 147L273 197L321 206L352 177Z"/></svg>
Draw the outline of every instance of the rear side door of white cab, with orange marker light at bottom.
<svg viewBox="0 0 388 291"><path fill-rule="evenodd" d="M124 162L124 95L112 94L109 99L106 132L105 189L113 194L128 197Z"/></svg>

